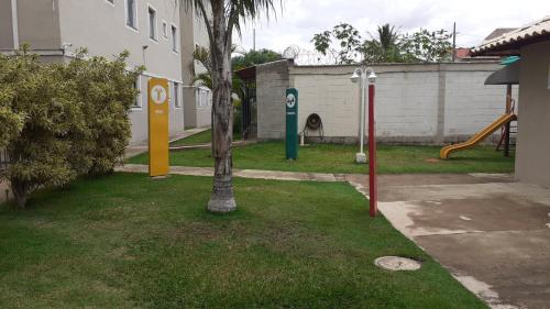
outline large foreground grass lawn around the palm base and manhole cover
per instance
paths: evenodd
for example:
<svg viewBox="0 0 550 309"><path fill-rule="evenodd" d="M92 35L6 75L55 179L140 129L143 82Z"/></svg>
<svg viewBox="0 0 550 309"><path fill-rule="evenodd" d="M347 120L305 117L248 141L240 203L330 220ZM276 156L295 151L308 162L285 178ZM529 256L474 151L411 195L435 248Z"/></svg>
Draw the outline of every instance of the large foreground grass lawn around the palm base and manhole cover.
<svg viewBox="0 0 550 309"><path fill-rule="evenodd" d="M346 184L237 179L228 216L210 188L116 174L0 207L0 308L487 308Z"/></svg>

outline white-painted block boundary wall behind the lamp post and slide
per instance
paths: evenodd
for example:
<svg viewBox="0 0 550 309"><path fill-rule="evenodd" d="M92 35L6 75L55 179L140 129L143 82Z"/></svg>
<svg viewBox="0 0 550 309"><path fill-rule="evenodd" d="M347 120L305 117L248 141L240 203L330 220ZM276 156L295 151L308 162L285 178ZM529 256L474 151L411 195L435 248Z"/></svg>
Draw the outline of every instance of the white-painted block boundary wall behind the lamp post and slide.
<svg viewBox="0 0 550 309"><path fill-rule="evenodd" d="M350 80L355 67L290 66L285 84L285 65L258 66L258 137L284 136L288 85L299 90L299 131L310 113L318 113L327 141L355 142L360 92L359 85ZM378 76L377 136L385 142L428 144L469 137L504 113L505 87L483 85L499 67L493 63L373 66Z"/></svg>

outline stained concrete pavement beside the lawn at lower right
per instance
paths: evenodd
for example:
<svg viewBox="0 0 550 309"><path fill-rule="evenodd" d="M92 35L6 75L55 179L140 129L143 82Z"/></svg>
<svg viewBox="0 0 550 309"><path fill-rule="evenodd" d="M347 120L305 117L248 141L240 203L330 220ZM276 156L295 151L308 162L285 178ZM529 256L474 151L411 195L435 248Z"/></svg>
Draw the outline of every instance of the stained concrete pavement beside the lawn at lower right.
<svg viewBox="0 0 550 309"><path fill-rule="evenodd" d="M550 309L550 189L509 175L387 175L378 194L392 224L492 308Z"/></svg>

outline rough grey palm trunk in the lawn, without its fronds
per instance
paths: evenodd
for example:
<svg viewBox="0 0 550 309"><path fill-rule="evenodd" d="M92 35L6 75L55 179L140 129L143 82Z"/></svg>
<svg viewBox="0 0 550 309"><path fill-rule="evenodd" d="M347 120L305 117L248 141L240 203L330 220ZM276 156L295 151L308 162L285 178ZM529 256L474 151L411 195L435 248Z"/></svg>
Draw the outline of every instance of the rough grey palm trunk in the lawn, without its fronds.
<svg viewBox="0 0 550 309"><path fill-rule="evenodd" d="M223 1L220 1L223 2ZM215 2L216 3L216 2ZM224 7L212 4L212 154L215 158L213 189L208 202L211 212L237 209L233 197L233 107L231 103L231 34L227 34ZM228 38L229 35L229 40Z"/></svg>

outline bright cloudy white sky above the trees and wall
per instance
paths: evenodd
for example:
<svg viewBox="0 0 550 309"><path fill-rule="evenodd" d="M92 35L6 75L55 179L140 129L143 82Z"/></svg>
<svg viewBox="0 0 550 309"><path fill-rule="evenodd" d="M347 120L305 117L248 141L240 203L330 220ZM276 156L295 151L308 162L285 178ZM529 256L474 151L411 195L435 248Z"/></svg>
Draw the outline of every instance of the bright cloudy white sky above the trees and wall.
<svg viewBox="0 0 550 309"><path fill-rule="evenodd" d="M275 0L277 1L277 0ZM457 45L477 45L496 27L517 27L550 15L550 0L283 0L276 16L249 22L237 44L249 51L256 30L256 48L282 53L290 45L314 51L316 33L345 22L355 26L363 38L375 34L376 26L389 23L402 33L420 27L452 31L457 22Z"/></svg>

